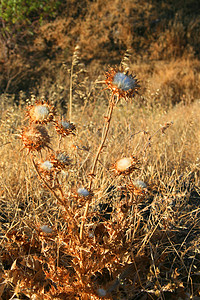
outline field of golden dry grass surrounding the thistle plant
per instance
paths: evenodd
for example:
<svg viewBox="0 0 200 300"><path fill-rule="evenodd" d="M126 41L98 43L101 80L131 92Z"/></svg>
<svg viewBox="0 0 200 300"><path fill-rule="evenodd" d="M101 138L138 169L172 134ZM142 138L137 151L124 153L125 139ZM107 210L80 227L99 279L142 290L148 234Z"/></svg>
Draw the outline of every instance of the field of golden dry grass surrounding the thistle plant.
<svg viewBox="0 0 200 300"><path fill-rule="evenodd" d="M139 206L133 204L133 207L137 207L132 225L133 232L130 231L132 235L130 245L135 245L131 250L134 255L132 253L129 256L131 248L125 251L120 258L121 267L116 265L116 269L111 268L111 277L108 278L107 271L101 270L100 260L99 271L103 272L103 276L97 276L98 267L94 269L97 273L93 274L92 290L86 289L86 294L82 291L80 295L83 299L101 298L99 288L106 290L107 296L111 299L116 299L116 297L119 299L123 297L125 299L143 299L143 297L146 297L144 299L155 297L186 299L189 295L192 297L199 293L198 284L194 283L198 278L195 274L198 268L196 253L199 230L199 100L196 99L187 105L179 104L168 110L157 105L153 107L139 105L140 100L139 95L133 103L122 102L114 110L108 139L96 169L93 185L95 198L91 204L91 207L96 207L98 203L104 203L110 199L113 207L116 207L117 211L120 209L124 199L120 196L119 188L128 182L126 178L114 176L113 164L123 156L136 156L140 161L140 168L131 175L131 178L133 181L143 180L147 184L149 193L140 200ZM102 126L105 122L105 109L106 103L104 105L91 103L87 107L73 110L77 135L65 138L61 142L61 148L66 150L72 159L72 165L67 173L60 178L62 189L68 195L77 187L87 186L90 180L91 164L100 143ZM35 247L39 247L37 239L38 237L40 239L38 235L40 226L47 224L52 226L62 241L67 234L68 225L63 219L62 207L41 184L26 151L20 151L22 144L18 133L23 123L23 113L24 108L12 106L2 112L1 257L2 274L4 276L7 274L5 277L7 284L2 285L1 293L2 299L9 299L14 294L22 298L26 295L30 299L33 299L31 297L48 299L45 298L47 297L45 293L42 296L41 287L36 283L35 286L33 283L31 285L34 291L31 296L28 292L28 285L31 283L24 281L24 276L30 275L28 273L25 275L25 270L22 275L20 271L24 264L30 267L27 257L39 259L41 254L38 251L42 251L40 248L34 250L34 246L30 244L27 244L28 249L25 248L26 234L27 237L32 236L32 239L36 239ZM171 122L173 124L162 132L163 126ZM56 149L58 138L52 129L50 132L55 140L53 146ZM43 156L45 157L45 152ZM108 193L109 188L111 188L110 193ZM113 212L114 218L121 218L121 213L115 215L116 212ZM89 225L90 222L87 226L92 225L93 222ZM119 225L116 226L118 228ZM123 218L120 226L122 229L125 226ZM105 230L105 228L100 229L98 225L97 228L103 232ZM18 242L17 239L19 239ZM21 246L20 243L22 243ZM56 251L56 243L55 239L55 245L52 244L51 251ZM63 249L60 251L61 257L64 255L63 260L67 251ZM90 251L89 248L88 251ZM57 255L58 253L55 252L53 257ZM193 257L193 260L191 261L188 257ZM49 260L46 261L49 266L52 265L51 259L49 256ZM91 263L92 260L91 257ZM172 265L170 260L173 261ZM14 262L17 266L13 265ZM16 273L9 271L10 268L16 270ZM30 269L37 273L41 267L34 269L32 266ZM168 277L165 272L169 274ZM138 279L134 279L136 276L134 274L138 274L139 282L137 282ZM51 276L53 281L58 280L51 272L48 276ZM117 276L121 283L117 281ZM64 278L67 280L66 277ZM133 285L134 280L137 282L135 285ZM59 282L61 283L61 278ZM80 290L82 289L80 285ZM67 291L69 296L59 294L61 297L59 299L66 299L65 297L76 299L77 290L76 292L73 289L70 291L68 288ZM72 296L73 293L74 296ZM50 299L55 295L49 296Z"/></svg>

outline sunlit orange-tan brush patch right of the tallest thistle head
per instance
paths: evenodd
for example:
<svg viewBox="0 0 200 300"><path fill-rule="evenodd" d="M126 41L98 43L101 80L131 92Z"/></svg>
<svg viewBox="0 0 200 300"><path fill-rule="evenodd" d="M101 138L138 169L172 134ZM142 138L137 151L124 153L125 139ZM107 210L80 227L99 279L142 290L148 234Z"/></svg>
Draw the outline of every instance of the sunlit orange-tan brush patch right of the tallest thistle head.
<svg viewBox="0 0 200 300"><path fill-rule="evenodd" d="M131 68L145 83L139 104L169 107L198 99L199 67L199 61L195 59L131 64Z"/></svg>

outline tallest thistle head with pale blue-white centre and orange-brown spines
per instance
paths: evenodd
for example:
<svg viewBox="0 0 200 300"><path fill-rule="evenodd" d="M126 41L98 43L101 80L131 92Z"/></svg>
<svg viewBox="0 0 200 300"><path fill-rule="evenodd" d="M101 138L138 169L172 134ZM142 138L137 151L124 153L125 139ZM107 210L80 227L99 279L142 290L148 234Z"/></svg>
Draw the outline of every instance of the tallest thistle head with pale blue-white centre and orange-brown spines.
<svg viewBox="0 0 200 300"><path fill-rule="evenodd" d="M135 76L125 73L123 69L110 68L105 74L107 88L113 95L126 101L134 97L137 93L139 84Z"/></svg>

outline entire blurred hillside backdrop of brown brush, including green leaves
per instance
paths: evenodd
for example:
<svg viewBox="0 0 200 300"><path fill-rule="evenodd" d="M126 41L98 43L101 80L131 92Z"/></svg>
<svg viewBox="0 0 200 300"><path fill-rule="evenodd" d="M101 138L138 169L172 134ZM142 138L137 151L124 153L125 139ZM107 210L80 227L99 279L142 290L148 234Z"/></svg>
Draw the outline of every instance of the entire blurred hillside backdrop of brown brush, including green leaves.
<svg viewBox="0 0 200 300"><path fill-rule="evenodd" d="M164 90L168 103L191 101L199 94L199 12L196 0L2 0L0 93L14 94L15 102L34 93L65 105L78 46L76 86L87 85L78 103L127 49L144 97L147 89Z"/></svg>

